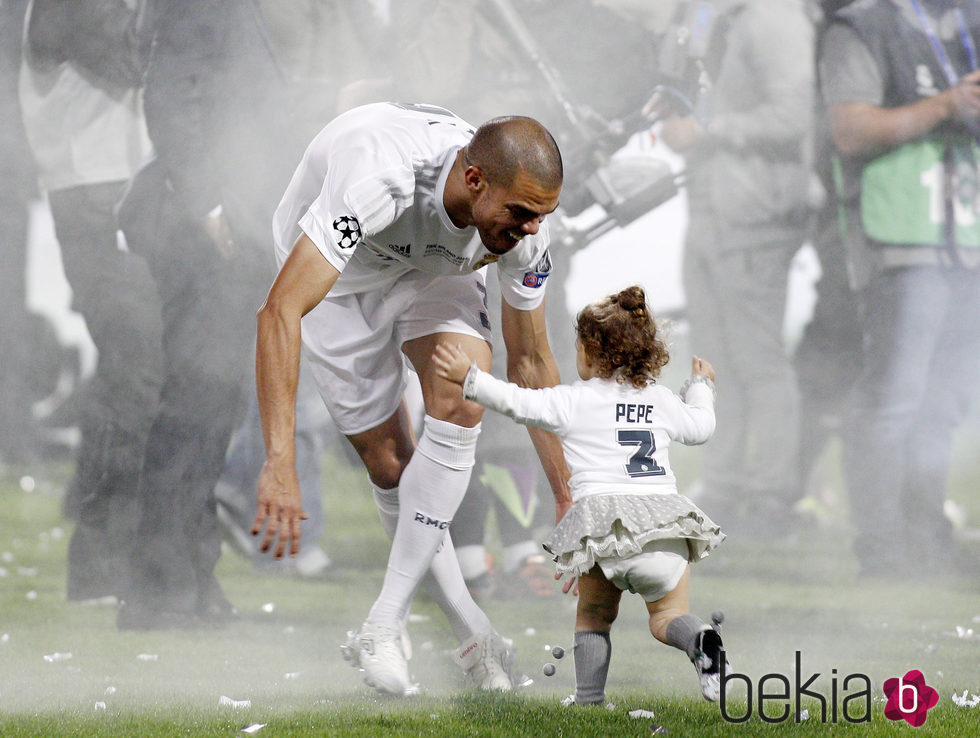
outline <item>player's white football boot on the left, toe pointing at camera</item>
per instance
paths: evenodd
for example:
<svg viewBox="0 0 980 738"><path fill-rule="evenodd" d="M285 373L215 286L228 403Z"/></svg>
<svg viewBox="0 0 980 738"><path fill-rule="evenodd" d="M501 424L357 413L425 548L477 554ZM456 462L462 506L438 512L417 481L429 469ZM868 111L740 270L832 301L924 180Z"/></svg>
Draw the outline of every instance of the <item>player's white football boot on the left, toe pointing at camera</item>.
<svg viewBox="0 0 980 738"><path fill-rule="evenodd" d="M358 630L348 631L340 653L364 672L369 687L395 697L418 694L418 685L408 675L412 644L404 624L365 622Z"/></svg>

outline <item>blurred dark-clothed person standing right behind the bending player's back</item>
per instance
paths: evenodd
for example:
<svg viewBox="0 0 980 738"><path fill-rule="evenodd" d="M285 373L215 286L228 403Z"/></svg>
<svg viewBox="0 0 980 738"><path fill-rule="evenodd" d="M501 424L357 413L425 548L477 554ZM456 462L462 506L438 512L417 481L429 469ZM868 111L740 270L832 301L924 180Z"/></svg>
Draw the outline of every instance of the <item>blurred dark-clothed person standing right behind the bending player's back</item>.
<svg viewBox="0 0 980 738"><path fill-rule="evenodd" d="M214 575L214 497L274 265L269 223L289 177L285 82L256 0L152 0L144 110L155 156L119 207L163 321L164 380L143 457L121 629L235 617Z"/></svg>

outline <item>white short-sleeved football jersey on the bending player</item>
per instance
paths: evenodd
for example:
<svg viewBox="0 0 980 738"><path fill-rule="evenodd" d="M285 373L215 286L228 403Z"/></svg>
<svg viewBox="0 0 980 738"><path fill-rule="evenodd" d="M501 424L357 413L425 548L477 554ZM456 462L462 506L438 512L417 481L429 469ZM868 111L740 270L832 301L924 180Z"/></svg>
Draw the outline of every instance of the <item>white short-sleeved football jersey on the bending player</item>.
<svg viewBox="0 0 980 738"><path fill-rule="evenodd" d="M475 227L453 225L443 203L456 153L474 128L431 105L354 108L313 139L273 218L280 266L300 233L341 272L332 295L384 289L411 270L469 274L496 262L500 290L520 310L537 307L551 272L548 231L507 254Z"/></svg>

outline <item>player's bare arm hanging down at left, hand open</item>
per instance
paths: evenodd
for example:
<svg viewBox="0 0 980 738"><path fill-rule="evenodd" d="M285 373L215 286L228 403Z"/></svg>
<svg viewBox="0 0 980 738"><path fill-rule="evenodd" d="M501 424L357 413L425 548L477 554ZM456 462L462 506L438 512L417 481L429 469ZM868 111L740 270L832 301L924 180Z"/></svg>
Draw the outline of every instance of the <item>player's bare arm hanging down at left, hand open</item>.
<svg viewBox="0 0 980 738"><path fill-rule="evenodd" d="M253 535L266 524L262 551L276 541L276 557L299 552L300 521L306 518L296 475L296 386L300 320L319 304L340 272L305 233L293 246L259 309L255 382L262 416L266 461L258 481Z"/></svg>

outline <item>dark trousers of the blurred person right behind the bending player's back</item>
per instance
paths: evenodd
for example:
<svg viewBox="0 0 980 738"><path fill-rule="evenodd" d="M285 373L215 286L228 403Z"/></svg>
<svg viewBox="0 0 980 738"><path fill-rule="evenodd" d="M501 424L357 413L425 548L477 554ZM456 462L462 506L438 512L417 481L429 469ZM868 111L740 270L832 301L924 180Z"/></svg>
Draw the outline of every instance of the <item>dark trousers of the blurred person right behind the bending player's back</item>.
<svg viewBox="0 0 980 738"><path fill-rule="evenodd" d="M244 407L271 249L236 233L236 252L223 256L203 224L180 212L152 163L131 183L120 224L156 282L164 354L138 489L139 545L124 596L143 607L192 612L220 592L214 486Z"/></svg>

